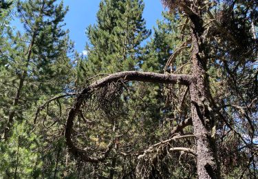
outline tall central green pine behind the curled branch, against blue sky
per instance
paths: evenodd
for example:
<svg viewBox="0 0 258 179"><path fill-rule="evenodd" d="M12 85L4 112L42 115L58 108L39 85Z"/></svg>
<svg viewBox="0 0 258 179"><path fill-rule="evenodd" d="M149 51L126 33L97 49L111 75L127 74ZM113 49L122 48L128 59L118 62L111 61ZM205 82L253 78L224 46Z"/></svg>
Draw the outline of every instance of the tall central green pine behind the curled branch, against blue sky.
<svg viewBox="0 0 258 179"><path fill-rule="evenodd" d="M85 76L90 77L96 74L105 75L125 70L139 70L141 63L140 58L143 51L142 41L147 39L151 34L151 31L147 30L145 27L145 21L142 18L143 10L144 4L141 0L105 0L100 2L97 22L95 25L90 25L87 28L89 44L87 44L86 50L88 54L84 61L78 61L78 74L80 74L78 81L85 82ZM87 83L89 83L89 81ZM131 88L134 88L133 86L132 84ZM109 89L107 89L107 91L109 91ZM105 95L105 91L100 95ZM112 92L109 94L109 92L107 92L107 97L109 95L110 100L112 100L111 96L115 95L116 99L114 99L114 101L120 103L119 94L112 94ZM96 123L92 125L91 129L85 129L90 138L89 146L95 147L101 145L105 148L109 144L109 138L118 136L129 129L131 121L136 116L124 116L124 121L122 121L123 116L121 115L122 111L130 110L133 112L133 110L135 110L136 103L135 101L134 103L133 101L129 101L129 98L131 98L129 95L130 94L122 94L124 100L131 106L128 106L129 108L121 106L119 110L117 109L118 106L115 104L116 102L114 102L114 104L107 106L107 110L104 109L104 112L96 109L96 111L93 110L92 112L85 113L86 118L92 115L96 118ZM96 98L98 98L98 96L95 96L93 101L97 100ZM98 101L96 101L96 104L98 105ZM104 104L105 101L103 101L102 107L105 107ZM114 113L111 112L109 114L109 109L112 107L116 109L114 109ZM116 110L118 110L118 112L116 112ZM149 112L146 112L146 116L147 114L149 114ZM113 134L109 131L111 129L110 127L114 127ZM108 167L105 167L104 163L100 163L98 170L96 170L95 173L89 174L88 177L108 176L109 178L120 178L125 173L129 172L131 170L131 164L120 158L117 152L120 148L134 143L134 141L140 137L139 130L140 129L135 130L137 133L135 135L136 138L133 138L134 134L131 134L131 132L130 134L125 134L127 136L126 140L117 138L117 143L120 144L117 144L115 149L111 151L109 155L110 159L105 160ZM85 165L87 165L87 169L94 170L92 165ZM125 166L123 167L123 165Z"/></svg>

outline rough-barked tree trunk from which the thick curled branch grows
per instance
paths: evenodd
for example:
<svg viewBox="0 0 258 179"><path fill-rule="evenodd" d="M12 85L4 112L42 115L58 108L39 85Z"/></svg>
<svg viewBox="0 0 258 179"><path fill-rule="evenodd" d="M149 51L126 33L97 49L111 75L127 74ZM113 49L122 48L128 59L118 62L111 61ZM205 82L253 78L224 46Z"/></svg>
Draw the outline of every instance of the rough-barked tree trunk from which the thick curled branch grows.
<svg viewBox="0 0 258 179"><path fill-rule="evenodd" d="M197 174L198 178L220 178L215 140L212 137L214 125L211 116L211 94L206 73L207 55L202 39L204 32L202 19L190 16L192 30L193 83L190 85L191 114L193 133L196 136Z"/></svg>

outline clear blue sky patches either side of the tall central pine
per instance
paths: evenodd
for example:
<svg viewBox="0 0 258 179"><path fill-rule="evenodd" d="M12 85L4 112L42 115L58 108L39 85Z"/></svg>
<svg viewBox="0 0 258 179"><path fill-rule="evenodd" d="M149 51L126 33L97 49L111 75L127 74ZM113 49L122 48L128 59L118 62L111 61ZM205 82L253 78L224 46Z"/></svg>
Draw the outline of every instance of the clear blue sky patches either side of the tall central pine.
<svg viewBox="0 0 258 179"><path fill-rule="evenodd" d="M64 0L65 6L69 6L69 12L65 17L65 28L69 29L69 36L75 43L75 50L83 52L87 36L85 30L88 25L96 22L96 13L100 0ZM147 28L152 29L157 19L162 19L164 10L160 0L144 0L145 8L143 17L147 22Z"/></svg>

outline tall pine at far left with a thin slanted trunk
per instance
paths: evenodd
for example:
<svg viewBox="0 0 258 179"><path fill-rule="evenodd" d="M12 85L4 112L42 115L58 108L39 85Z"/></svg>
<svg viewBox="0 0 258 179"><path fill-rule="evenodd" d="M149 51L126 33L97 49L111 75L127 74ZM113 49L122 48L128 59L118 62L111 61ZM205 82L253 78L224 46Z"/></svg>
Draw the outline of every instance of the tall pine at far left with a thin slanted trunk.
<svg viewBox="0 0 258 179"><path fill-rule="evenodd" d="M27 96L27 92L43 90L45 94L50 94L56 90L56 87L52 88L53 85L47 81L54 76L58 78L58 73L60 74L69 62L65 54L69 50L69 39L61 24L67 9L63 9L63 3L58 6L54 3L55 1L45 0L17 2L18 15L25 32L23 34L17 32L12 37L11 60L6 63L15 87L8 90L13 101L6 103L6 108L9 108L6 114L8 121L3 138L8 138L8 131L12 127L14 118L22 118L23 103L28 101L26 105L29 105L35 101L35 96ZM36 85L30 84L34 81ZM59 89L59 92L61 90ZM32 100L28 100L29 98Z"/></svg>

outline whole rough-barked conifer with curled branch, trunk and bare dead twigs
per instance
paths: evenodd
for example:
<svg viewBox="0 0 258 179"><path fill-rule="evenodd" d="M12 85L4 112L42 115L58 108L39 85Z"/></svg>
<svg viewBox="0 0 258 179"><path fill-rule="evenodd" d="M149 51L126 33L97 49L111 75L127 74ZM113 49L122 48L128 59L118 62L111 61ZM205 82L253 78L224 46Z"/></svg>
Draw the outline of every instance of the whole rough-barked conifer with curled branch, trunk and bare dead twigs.
<svg viewBox="0 0 258 179"><path fill-rule="evenodd" d="M257 144L254 141L257 137L257 38L253 26L257 24L254 19L257 3L187 0L163 2L169 7L171 14L180 14L178 21L182 23L181 31L188 28L186 34L183 33L182 43L173 50L164 64L164 74L118 72L85 86L76 96L67 116L65 140L69 151L84 162L96 164L93 170L96 177L108 176L103 169L106 164L110 171L116 169L116 172L125 173L120 178L169 178L171 173L176 178L181 176L181 172L177 173L178 169L174 167L178 165L173 162L184 161L188 171L182 174L187 178L256 178ZM177 59L189 55L188 49L190 57L181 66ZM156 65L155 69L160 66L162 65ZM146 64L145 67L150 65ZM152 128L157 133L149 140L149 145L144 145L148 143L140 140L145 138L141 135L143 132L138 133L137 129L147 126L142 123L142 115L138 116L138 110L130 131L134 134L135 143L131 143L128 135L122 135L120 140L115 136L115 140L112 140L112 135L101 138L102 130L96 130L101 136L95 138L90 133L90 129L93 129L92 126L100 118L119 120L120 123L127 121L127 112L124 113L125 116L122 116L123 113L119 116L117 112L128 109L125 105L133 98L122 98L125 96L123 92L126 93L127 88L132 86L131 81L169 84L166 87L169 94L184 89L181 98L166 99L166 102L171 103L169 106L178 110L176 115L170 116L171 124L175 127L170 127L167 140L155 143L155 137L159 133ZM138 105L139 108L142 107L142 104ZM91 109L96 109L96 113L89 114ZM103 115L98 116L99 114ZM78 127L79 118L84 118L85 136ZM98 127L102 124L98 123ZM114 130L111 125L109 127L105 132L115 135L116 125ZM140 138L136 134L140 134ZM82 141L87 142L85 144ZM100 147L83 148L85 145L92 146L94 141ZM107 145L107 141L110 145ZM151 144L152 142L155 144ZM234 147L229 147L228 143ZM137 151L127 150L132 144ZM142 146L145 149L141 150ZM108 157L112 156L113 151L120 154L115 165L113 161L103 162L110 159ZM171 161L170 157L164 159L171 154L178 154L178 151L181 153L178 160ZM116 167L116 162L122 156L126 158L127 165L121 169ZM244 164L239 164L242 160ZM228 173L228 168L234 171Z"/></svg>

